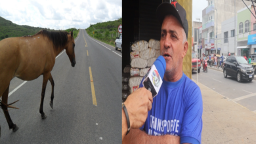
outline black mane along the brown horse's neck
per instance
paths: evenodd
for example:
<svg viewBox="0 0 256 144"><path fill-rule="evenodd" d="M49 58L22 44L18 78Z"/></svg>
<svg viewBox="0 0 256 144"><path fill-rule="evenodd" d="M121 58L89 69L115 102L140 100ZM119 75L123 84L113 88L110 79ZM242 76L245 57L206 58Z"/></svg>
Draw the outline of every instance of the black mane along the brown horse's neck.
<svg viewBox="0 0 256 144"><path fill-rule="evenodd" d="M65 46L68 42L68 33L67 31L47 31L41 30L35 35L43 35L44 37L48 37L50 41L53 42L53 46L58 49L59 47ZM71 35L73 39L73 35Z"/></svg>

